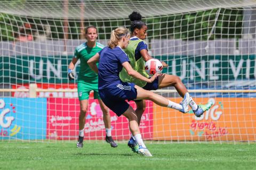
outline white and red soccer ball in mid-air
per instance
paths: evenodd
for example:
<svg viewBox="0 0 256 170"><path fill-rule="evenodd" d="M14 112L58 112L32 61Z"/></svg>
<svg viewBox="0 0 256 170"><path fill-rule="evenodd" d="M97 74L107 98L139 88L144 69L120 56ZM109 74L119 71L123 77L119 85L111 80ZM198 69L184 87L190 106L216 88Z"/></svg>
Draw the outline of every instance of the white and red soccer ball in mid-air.
<svg viewBox="0 0 256 170"><path fill-rule="evenodd" d="M157 59L150 59L145 63L145 71L148 75L152 76L155 73L162 73L163 64Z"/></svg>

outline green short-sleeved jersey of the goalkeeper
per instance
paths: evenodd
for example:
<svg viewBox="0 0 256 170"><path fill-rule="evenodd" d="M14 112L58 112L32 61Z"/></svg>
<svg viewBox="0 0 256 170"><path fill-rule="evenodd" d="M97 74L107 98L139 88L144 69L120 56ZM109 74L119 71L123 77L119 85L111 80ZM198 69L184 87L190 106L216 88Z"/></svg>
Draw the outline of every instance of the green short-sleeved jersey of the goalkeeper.
<svg viewBox="0 0 256 170"><path fill-rule="evenodd" d="M96 46L90 48L87 43L83 43L76 47L75 57L80 59L80 71L78 74L78 80L96 80L98 81L98 74L91 70L87 61L97 54L104 46L100 43L96 43ZM98 66L98 63L97 63Z"/></svg>

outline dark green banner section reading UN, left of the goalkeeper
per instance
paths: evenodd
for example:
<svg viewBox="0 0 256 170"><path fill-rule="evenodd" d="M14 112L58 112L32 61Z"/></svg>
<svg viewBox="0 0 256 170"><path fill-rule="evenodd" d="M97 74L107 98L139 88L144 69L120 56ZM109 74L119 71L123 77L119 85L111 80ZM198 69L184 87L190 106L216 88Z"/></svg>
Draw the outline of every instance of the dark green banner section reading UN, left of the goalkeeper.
<svg viewBox="0 0 256 170"><path fill-rule="evenodd" d="M4 56L1 60L4 83L68 83L68 64L72 58L73 56ZM76 71L79 71L79 66Z"/></svg>

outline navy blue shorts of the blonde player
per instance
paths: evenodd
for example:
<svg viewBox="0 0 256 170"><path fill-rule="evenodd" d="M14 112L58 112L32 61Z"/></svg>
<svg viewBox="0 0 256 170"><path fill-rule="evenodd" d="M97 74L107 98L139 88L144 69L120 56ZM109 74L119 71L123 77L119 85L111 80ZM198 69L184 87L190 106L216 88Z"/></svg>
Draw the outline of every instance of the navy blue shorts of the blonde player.
<svg viewBox="0 0 256 170"><path fill-rule="evenodd" d="M99 95L108 108L121 116L130 106L125 100L137 98L137 89L134 86L134 83L121 82L113 87L99 89Z"/></svg>

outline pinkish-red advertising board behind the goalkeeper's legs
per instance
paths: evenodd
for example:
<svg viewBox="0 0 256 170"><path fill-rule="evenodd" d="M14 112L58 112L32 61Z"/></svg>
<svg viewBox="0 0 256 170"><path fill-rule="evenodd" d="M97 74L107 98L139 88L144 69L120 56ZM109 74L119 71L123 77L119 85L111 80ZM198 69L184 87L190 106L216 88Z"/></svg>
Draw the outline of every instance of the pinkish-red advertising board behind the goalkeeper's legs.
<svg viewBox="0 0 256 170"><path fill-rule="evenodd" d="M147 101L147 109L142 116L140 124L141 134L144 139L153 138L153 103ZM135 108L135 103L130 102ZM79 100L72 98L48 98L47 99L47 138L58 140L76 140L78 137L78 117L80 112ZM124 116L116 116L110 111L112 136L116 140L130 138L129 124ZM105 139L105 125L98 100L89 98L89 106L86 113L84 128L85 140Z"/></svg>

